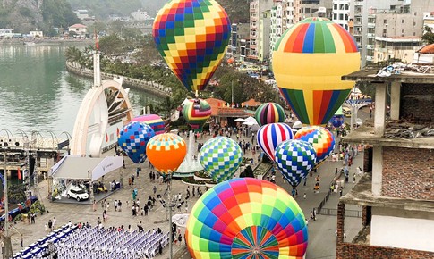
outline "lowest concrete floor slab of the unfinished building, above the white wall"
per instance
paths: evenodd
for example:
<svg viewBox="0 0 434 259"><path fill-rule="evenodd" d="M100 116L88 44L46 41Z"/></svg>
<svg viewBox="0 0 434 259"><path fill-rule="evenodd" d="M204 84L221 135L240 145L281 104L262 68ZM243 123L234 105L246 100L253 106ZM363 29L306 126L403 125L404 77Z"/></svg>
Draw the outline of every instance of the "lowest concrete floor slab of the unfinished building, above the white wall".
<svg viewBox="0 0 434 259"><path fill-rule="evenodd" d="M372 176L366 173L359 182L340 201L347 205L364 205L374 207L387 207L404 209L406 211L418 211L434 213L434 202L416 200L410 198L396 198L387 196L373 196L371 192Z"/></svg>

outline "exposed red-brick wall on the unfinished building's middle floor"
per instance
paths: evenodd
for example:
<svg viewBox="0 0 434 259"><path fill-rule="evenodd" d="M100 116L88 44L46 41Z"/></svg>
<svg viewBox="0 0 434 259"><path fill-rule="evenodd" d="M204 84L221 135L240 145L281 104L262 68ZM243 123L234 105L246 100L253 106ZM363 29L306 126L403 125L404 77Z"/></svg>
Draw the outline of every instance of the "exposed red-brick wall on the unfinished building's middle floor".
<svg viewBox="0 0 434 259"><path fill-rule="evenodd" d="M434 150L384 146L382 196L434 200Z"/></svg>

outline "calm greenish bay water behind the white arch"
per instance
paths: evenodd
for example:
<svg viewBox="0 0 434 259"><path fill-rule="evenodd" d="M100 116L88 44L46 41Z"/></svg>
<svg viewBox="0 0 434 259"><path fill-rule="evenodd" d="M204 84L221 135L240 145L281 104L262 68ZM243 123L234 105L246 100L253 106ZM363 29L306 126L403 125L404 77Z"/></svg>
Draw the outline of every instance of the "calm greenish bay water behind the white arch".
<svg viewBox="0 0 434 259"><path fill-rule="evenodd" d="M80 46L79 46L80 47ZM93 79L70 74L64 67L67 46L24 46L0 43L0 129L72 134L83 97ZM131 89L134 115L157 96ZM4 136L4 130L0 136Z"/></svg>

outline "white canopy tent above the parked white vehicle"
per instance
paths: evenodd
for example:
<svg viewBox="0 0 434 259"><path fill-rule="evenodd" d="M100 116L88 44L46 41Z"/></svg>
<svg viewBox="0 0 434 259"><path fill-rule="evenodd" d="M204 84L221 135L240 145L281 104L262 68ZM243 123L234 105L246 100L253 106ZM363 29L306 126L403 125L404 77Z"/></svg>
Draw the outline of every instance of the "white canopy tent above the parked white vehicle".
<svg viewBox="0 0 434 259"><path fill-rule="evenodd" d="M101 158L67 155L51 168L51 177L94 181L123 166L122 156Z"/></svg>

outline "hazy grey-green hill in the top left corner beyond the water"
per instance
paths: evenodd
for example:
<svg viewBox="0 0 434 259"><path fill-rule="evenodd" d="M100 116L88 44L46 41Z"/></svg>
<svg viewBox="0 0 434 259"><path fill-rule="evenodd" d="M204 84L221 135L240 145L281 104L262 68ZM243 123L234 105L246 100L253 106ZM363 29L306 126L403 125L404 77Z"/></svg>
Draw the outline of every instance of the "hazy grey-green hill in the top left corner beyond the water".
<svg viewBox="0 0 434 259"><path fill-rule="evenodd" d="M67 28L80 22L66 0L0 0L0 28L29 33L40 29L54 34L53 28Z"/></svg>

